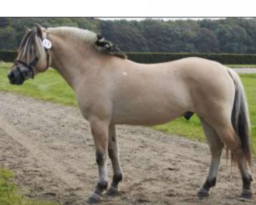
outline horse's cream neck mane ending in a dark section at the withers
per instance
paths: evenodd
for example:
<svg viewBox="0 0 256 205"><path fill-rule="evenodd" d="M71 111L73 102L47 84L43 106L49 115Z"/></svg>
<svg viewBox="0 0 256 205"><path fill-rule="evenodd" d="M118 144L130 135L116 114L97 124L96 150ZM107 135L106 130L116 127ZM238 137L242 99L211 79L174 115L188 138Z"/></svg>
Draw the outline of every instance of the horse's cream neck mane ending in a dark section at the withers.
<svg viewBox="0 0 256 205"><path fill-rule="evenodd" d="M79 29L75 27L56 27L48 29L51 33L64 35L82 41L85 45L94 46L99 52L107 53L109 55L118 56L125 59L127 56L112 42L105 40L95 32Z"/></svg>

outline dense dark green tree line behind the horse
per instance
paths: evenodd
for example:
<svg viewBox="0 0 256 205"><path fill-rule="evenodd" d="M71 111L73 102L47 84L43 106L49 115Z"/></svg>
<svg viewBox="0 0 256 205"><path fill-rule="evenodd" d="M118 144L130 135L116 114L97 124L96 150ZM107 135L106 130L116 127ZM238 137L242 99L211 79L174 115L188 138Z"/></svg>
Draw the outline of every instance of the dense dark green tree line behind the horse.
<svg viewBox="0 0 256 205"><path fill-rule="evenodd" d="M24 26L76 26L100 33L125 52L256 53L256 18L100 20L0 18L0 50L16 50Z"/></svg>

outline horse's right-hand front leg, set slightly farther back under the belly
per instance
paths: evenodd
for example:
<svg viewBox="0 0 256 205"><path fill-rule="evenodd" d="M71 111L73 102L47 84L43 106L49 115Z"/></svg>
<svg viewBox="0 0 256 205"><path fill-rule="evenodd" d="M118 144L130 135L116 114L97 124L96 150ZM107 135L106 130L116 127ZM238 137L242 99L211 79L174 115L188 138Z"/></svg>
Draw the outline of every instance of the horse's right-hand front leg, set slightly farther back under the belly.
<svg viewBox="0 0 256 205"><path fill-rule="evenodd" d="M122 172L120 161L119 161L118 138L116 135L115 126L109 126L108 152L109 152L109 158L112 161L113 180L106 194L114 196L119 193L118 184L123 180L123 172Z"/></svg>

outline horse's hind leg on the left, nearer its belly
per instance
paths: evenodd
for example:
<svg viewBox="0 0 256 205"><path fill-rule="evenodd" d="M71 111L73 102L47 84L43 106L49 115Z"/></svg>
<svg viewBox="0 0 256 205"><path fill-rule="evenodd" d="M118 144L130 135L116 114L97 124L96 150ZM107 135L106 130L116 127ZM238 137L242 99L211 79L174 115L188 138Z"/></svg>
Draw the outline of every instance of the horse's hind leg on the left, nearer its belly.
<svg viewBox="0 0 256 205"><path fill-rule="evenodd" d="M206 182L203 184L203 186L200 188L199 192L197 193L198 197L203 198L203 197L209 196L209 189L212 186L215 186L216 184L219 165L221 161L221 152L224 144L219 138L218 134L212 128L212 126L210 126L202 117L200 117L200 121L202 123L203 130L206 135L207 141L210 146L211 154L212 154L211 166L210 166L208 177L206 179Z"/></svg>

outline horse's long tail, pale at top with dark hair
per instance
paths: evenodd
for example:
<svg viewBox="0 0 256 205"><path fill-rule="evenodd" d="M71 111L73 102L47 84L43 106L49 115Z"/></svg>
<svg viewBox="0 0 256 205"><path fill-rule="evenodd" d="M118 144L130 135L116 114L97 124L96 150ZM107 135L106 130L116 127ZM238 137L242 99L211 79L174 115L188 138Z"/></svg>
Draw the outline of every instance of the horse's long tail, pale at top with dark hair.
<svg viewBox="0 0 256 205"><path fill-rule="evenodd" d="M235 85L235 100L232 110L231 121L236 134L241 140L241 146L247 163L251 167L252 154L250 147L250 118L248 113L248 105L244 92L244 86L240 77L234 70L228 68L228 73L233 79Z"/></svg>

